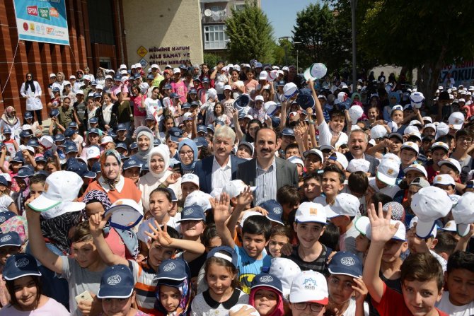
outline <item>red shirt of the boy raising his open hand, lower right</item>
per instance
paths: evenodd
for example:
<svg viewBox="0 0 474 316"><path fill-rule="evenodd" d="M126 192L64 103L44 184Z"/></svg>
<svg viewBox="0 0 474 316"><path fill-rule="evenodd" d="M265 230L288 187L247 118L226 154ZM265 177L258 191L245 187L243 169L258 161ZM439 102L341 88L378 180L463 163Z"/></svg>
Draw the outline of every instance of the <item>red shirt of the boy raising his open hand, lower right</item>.
<svg viewBox="0 0 474 316"><path fill-rule="evenodd" d="M403 300L403 294L394 291L391 288L386 286L386 283L383 283L383 295L380 302L372 300L372 305L376 308L380 316L410 316L413 315L412 312L405 305L405 300ZM439 316L448 316L445 312L437 309Z"/></svg>

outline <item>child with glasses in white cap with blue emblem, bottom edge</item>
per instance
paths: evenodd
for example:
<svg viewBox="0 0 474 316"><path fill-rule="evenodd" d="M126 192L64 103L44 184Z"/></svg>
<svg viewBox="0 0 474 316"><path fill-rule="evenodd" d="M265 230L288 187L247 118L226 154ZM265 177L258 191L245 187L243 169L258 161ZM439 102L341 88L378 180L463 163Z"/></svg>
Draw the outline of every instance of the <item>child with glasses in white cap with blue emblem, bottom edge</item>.
<svg viewBox="0 0 474 316"><path fill-rule="evenodd" d="M301 271L291 283L289 308L292 316L323 316L329 301L328 283L316 271Z"/></svg>

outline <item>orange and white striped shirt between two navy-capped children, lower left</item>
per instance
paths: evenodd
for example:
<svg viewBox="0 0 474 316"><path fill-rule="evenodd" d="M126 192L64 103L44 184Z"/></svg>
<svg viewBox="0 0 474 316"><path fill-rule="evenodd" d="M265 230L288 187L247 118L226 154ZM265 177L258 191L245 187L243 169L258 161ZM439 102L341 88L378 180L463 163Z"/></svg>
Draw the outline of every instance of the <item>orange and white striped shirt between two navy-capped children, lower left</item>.
<svg viewBox="0 0 474 316"><path fill-rule="evenodd" d="M129 268L132 270L133 279L135 281L135 300L137 301L137 307L142 312L154 315L156 312L155 308L155 291L156 283L158 280L154 280L156 277L156 271L152 269L147 263L147 260L142 262L134 262L129 260Z"/></svg>

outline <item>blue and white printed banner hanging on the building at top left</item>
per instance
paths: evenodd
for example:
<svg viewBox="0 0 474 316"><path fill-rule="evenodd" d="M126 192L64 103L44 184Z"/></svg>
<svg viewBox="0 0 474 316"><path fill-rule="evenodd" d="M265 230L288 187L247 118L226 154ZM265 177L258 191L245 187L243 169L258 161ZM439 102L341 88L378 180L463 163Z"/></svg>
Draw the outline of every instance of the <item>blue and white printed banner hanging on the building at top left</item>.
<svg viewBox="0 0 474 316"><path fill-rule="evenodd" d="M69 45L65 0L13 0L18 39Z"/></svg>

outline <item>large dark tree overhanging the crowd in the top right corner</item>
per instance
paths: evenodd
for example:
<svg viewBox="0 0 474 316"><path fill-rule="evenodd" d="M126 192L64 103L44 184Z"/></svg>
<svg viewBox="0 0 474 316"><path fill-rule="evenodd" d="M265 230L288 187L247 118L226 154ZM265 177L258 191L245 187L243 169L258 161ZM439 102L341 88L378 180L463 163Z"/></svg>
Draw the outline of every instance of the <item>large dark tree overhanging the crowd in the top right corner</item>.
<svg viewBox="0 0 474 316"><path fill-rule="evenodd" d="M470 1L359 0L357 6L364 16L362 49L381 64L417 68L417 86L428 103L442 66L474 57Z"/></svg>

